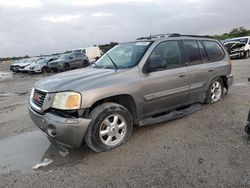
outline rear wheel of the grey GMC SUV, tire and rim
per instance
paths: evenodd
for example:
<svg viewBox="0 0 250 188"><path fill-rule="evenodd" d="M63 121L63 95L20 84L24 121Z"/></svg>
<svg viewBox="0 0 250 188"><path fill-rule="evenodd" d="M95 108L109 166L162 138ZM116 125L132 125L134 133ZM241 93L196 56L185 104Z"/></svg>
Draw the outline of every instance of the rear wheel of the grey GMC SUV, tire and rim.
<svg viewBox="0 0 250 188"><path fill-rule="evenodd" d="M224 94L224 85L221 78L215 79L211 82L207 94L206 103L213 104L222 99Z"/></svg>

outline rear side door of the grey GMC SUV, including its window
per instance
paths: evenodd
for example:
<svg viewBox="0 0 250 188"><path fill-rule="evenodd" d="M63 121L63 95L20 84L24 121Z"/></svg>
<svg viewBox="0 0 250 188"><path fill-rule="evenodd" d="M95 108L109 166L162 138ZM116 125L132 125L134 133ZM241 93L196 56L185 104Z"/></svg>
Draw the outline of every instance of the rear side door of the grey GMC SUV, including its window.
<svg viewBox="0 0 250 188"><path fill-rule="evenodd" d="M204 100L210 82L218 73L216 69L218 62L209 58L205 42L190 39L182 41L188 68L187 78L190 84L188 101L190 103ZM207 41L206 44L211 45L210 41Z"/></svg>

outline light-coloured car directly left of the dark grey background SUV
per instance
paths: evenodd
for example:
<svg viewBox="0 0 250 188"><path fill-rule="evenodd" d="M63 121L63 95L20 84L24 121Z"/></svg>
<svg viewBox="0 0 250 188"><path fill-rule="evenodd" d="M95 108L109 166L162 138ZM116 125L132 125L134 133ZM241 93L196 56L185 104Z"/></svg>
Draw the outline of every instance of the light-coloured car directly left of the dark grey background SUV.
<svg viewBox="0 0 250 188"><path fill-rule="evenodd" d="M44 59L39 59L38 61L25 67L25 70L30 73L44 73L49 72L49 62L56 60L55 57L47 57Z"/></svg>

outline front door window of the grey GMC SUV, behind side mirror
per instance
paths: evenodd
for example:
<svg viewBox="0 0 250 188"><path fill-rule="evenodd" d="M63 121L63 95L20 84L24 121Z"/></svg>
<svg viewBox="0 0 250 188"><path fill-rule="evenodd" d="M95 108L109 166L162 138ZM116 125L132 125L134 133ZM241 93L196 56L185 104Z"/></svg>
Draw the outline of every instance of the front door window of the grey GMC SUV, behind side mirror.
<svg viewBox="0 0 250 188"><path fill-rule="evenodd" d="M179 42L165 41L158 44L149 56L147 64L150 72L181 67Z"/></svg>

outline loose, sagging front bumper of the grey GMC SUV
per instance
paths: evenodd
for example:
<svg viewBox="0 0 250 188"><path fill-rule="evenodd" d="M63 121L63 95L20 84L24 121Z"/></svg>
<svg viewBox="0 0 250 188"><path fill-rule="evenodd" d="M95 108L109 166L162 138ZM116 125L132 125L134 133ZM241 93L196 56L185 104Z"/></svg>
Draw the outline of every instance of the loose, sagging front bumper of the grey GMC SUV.
<svg viewBox="0 0 250 188"><path fill-rule="evenodd" d="M32 121L49 139L69 147L80 147L91 119L64 118L52 113L39 114L29 107Z"/></svg>

